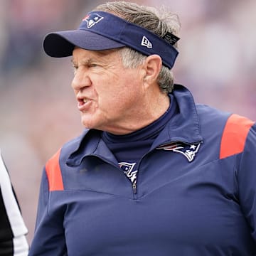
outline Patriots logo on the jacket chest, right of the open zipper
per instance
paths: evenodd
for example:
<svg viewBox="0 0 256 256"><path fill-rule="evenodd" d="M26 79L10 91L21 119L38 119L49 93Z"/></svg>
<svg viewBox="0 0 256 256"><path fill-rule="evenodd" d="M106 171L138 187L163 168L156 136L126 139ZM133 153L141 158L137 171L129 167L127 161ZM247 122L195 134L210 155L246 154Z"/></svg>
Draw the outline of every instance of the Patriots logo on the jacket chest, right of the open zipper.
<svg viewBox="0 0 256 256"><path fill-rule="evenodd" d="M196 153L200 148L200 145L201 142L195 144L184 144L175 142L158 146L156 149L164 149L167 151L174 151L183 154L183 156L186 156L186 159L188 159L188 161L191 162L195 158Z"/></svg>

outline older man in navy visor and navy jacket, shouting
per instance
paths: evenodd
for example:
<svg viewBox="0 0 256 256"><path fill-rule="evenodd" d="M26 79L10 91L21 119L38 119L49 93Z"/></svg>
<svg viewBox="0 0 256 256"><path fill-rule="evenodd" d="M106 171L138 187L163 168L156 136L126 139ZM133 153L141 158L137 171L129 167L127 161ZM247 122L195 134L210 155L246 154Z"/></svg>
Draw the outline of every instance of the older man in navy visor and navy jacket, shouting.
<svg viewBox="0 0 256 256"><path fill-rule="evenodd" d="M44 39L85 132L43 170L30 255L253 255L256 126L174 85L174 14L115 1Z"/></svg>

